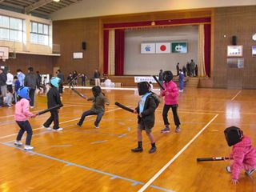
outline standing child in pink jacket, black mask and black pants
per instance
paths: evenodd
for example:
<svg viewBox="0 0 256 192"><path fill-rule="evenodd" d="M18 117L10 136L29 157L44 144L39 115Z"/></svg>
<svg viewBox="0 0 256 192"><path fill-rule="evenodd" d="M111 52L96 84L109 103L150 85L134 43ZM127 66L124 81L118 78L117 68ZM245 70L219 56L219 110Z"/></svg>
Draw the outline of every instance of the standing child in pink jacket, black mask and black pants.
<svg viewBox="0 0 256 192"><path fill-rule="evenodd" d="M165 128L161 130L162 133L168 133L170 132L170 123L168 122L168 111L173 111L174 115L174 123L176 126L175 132L178 133L180 131L180 122L178 118L178 87L175 82L172 81L174 75L171 73L170 70L166 70L163 72L163 78L164 83L162 83L162 86L165 88L165 90L161 91L160 96L165 97L165 106L162 110L162 117L163 121L165 123Z"/></svg>

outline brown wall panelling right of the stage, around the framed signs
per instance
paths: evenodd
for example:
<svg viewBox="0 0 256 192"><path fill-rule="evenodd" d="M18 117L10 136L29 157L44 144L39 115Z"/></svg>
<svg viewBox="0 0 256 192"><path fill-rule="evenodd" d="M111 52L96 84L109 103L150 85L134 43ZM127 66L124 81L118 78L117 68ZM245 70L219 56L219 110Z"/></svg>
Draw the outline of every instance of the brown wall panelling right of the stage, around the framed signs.
<svg viewBox="0 0 256 192"><path fill-rule="evenodd" d="M216 8L214 13L214 87L230 89L256 88L256 58L251 55L251 46L256 42L256 6ZM226 35L226 38L224 37ZM226 49L232 36L237 36L243 46L244 68L227 67Z"/></svg>

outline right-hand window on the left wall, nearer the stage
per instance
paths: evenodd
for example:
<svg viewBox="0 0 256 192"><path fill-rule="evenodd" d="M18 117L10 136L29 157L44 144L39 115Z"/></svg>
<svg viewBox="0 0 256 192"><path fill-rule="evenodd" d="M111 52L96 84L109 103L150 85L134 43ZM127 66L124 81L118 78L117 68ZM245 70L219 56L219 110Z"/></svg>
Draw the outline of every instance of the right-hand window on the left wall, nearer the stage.
<svg viewBox="0 0 256 192"><path fill-rule="evenodd" d="M30 42L49 46L49 26L39 22L30 22Z"/></svg>

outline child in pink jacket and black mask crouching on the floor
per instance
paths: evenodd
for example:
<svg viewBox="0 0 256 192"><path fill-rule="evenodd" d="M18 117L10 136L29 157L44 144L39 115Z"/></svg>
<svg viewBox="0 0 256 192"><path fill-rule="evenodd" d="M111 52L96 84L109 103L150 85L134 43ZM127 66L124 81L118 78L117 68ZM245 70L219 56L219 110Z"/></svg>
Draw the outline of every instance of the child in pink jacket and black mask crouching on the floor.
<svg viewBox="0 0 256 192"><path fill-rule="evenodd" d="M242 130L236 126L230 126L224 130L226 142L233 146L230 158L234 160L226 171L232 175L232 183L238 183L238 176L242 169L246 170L246 175L252 174L256 170L256 149L252 146L249 137L243 135Z"/></svg>

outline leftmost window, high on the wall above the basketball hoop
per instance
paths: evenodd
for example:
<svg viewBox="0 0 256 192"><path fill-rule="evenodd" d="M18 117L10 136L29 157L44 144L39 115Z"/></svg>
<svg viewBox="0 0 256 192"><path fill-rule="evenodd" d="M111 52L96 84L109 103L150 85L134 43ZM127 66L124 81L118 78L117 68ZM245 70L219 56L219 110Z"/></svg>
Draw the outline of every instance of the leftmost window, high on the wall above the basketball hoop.
<svg viewBox="0 0 256 192"><path fill-rule="evenodd" d="M0 15L0 39L22 42L23 20Z"/></svg>

